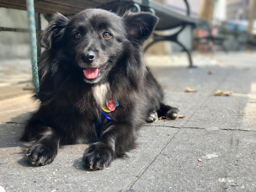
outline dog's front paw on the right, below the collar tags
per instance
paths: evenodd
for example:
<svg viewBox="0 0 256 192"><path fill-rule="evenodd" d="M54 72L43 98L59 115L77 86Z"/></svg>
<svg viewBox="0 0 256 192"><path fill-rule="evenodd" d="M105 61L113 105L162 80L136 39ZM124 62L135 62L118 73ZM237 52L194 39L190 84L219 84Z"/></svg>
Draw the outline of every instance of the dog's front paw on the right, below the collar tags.
<svg viewBox="0 0 256 192"><path fill-rule="evenodd" d="M83 162L86 169L100 170L108 167L113 159L113 150L104 143L94 143L84 153Z"/></svg>

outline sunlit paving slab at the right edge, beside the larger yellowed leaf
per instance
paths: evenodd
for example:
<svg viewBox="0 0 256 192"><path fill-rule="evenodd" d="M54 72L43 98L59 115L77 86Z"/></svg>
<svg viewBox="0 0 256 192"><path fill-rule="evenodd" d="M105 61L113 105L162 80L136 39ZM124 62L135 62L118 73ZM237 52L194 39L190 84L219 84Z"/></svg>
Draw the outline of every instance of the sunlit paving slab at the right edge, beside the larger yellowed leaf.
<svg viewBox="0 0 256 192"><path fill-rule="evenodd" d="M185 127L256 131L255 68L234 69L216 88L235 93L229 97L210 96Z"/></svg>

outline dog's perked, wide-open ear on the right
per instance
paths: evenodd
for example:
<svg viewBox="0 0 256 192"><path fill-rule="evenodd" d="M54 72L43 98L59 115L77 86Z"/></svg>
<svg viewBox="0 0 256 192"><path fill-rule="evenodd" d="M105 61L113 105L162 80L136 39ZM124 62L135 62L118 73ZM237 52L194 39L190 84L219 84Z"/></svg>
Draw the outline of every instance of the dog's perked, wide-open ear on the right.
<svg viewBox="0 0 256 192"><path fill-rule="evenodd" d="M125 27L131 40L142 44L152 33L158 22L158 17L146 13L131 13L127 11L123 15Z"/></svg>

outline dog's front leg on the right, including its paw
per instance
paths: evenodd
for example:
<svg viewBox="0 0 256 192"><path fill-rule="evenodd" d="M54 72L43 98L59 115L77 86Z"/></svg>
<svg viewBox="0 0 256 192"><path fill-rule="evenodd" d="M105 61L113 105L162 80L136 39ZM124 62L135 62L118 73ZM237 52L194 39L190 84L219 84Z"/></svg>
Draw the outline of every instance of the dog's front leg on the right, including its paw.
<svg viewBox="0 0 256 192"><path fill-rule="evenodd" d="M135 147L135 138L135 129L129 123L110 125L99 141L85 150L85 167L91 170L108 167L114 158L125 156L126 151Z"/></svg>

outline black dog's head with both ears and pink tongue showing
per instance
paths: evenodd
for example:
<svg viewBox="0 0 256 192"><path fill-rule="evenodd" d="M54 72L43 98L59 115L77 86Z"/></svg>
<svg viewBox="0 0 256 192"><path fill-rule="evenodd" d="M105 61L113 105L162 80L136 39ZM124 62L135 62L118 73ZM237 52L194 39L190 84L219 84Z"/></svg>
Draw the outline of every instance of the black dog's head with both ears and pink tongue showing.
<svg viewBox="0 0 256 192"><path fill-rule="evenodd" d="M42 33L41 45L64 50L78 66L78 75L93 84L107 77L128 45L141 49L157 20L144 12L121 17L101 9L87 9L71 18L56 13Z"/></svg>

